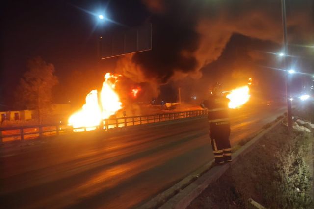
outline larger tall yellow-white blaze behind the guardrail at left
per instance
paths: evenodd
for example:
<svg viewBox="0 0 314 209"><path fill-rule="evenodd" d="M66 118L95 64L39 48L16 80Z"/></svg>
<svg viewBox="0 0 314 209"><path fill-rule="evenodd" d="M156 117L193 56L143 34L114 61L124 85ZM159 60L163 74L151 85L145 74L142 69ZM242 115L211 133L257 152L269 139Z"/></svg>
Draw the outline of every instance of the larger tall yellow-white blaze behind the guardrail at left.
<svg viewBox="0 0 314 209"><path fill-rule="evenodd" d="M122 108L119 95L115 92L115 85L118 76L105 74L105 81L100 93L100 103L98 103L98 92L92 90L86 96L86 103L82 109L70 116L68 122L73 128L85 127L86 131L94 130L102 123L103 119L109 118ZM84 131L78 129L76 131Z"/></svg>

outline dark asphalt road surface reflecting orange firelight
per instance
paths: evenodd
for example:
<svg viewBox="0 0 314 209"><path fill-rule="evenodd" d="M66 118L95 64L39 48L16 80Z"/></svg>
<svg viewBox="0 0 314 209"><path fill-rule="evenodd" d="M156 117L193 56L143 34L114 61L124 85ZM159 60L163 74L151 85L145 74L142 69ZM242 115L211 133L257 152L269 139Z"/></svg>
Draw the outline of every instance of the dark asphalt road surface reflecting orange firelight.
<svg viewBox="0 0 314 209"><path fill-rule="evenodd" d="M231 112L233 146L285 110ZM134 208L213 159L207 118L0 147L0 208Z"/></svg>

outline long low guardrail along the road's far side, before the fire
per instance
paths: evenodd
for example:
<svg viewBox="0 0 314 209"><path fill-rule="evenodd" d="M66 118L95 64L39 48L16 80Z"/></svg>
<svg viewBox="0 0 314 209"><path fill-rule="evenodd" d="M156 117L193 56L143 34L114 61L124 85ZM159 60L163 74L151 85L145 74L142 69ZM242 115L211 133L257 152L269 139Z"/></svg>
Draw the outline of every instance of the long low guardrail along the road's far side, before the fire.
<svg viewBox="0 0 314 209"><path fill-rule="evenodd" d="M206 115L207 110L192 110L184 112L171 112L156 115L131 116L122 118L108 118L103 120L103 125L92 127L73 128L66 124L44 124L20 127L0 128L0 142L12 140L25 140L43 136L69 134L73 132L91 131L95 129L109 130L112 128L120 128L127 126L136 126L149 123L159 123L170 120L196 117Z"/></svg>

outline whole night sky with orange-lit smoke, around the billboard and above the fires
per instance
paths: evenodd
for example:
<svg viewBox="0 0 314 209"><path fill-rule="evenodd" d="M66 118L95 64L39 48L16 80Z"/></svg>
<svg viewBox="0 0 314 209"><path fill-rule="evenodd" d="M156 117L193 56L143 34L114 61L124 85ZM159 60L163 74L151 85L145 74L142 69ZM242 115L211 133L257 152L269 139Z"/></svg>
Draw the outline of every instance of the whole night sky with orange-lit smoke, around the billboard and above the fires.
<svg viewBox="0 0 314 209"><path fill-rule="evenodd" d="M300 45L314 45L313 8L311 0L287 0L290 54L303 57L288 63L307 73L314 73L314 49ZM284 91L282 72L267 68L282 63L265 53L281 50L280 0L27 0L7 1L1 10L2 109L14 108L13 92L35 56L55 67L54 103L82 104L106 72L147 86L153 93L143 100L158 95L175 100L178 86L183 97L203 96L210 83L234 87L249 77L260 91ZM91 13L119 24L99 23ZM152 51L97 59L97 39L105 31L147 22L153 25ZM297 89L309 81L297 76L293 82Z"/></svg>

